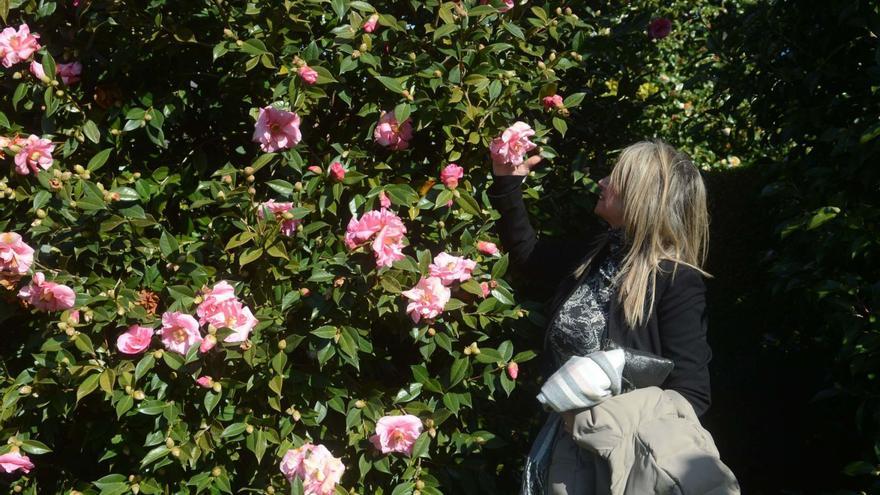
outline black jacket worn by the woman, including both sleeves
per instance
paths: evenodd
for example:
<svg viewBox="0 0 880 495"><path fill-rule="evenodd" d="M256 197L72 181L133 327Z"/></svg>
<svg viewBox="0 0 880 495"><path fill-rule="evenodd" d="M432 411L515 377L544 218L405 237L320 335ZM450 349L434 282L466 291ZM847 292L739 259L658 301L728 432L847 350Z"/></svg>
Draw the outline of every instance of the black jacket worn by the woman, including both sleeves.
<svg viewBox="0 0 880 495"><path fill-rule="evenodd" d="M553 294L548 305L548 324L578 286L574 270L586 260L590 266L605 255L608 231L583 239L538 239L529 222L522 198L522 177L495 177L488 190L492 205L501 214L495 227L510 256L514 273L530 292ZM630 329L617 297L608 319L608 337L618 345L666 357L675 368L662 388L683 395L697 415L709 408L709 361L712 351L706 340L706 286L697 270L672 261L660 263L654 306L637 329ZM586 276L589 269L584 271Z"/></svg>

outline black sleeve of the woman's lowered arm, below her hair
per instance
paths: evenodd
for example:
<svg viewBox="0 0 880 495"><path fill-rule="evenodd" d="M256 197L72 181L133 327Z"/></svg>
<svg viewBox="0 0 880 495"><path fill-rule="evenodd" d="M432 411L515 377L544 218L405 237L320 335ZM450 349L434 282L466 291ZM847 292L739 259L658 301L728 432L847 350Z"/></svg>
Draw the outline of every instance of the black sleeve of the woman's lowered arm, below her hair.
<svg viewBox="0 0 880 495"><path fill-rule="evenodd" d="M658 302L657 323L663 357L675 363L663 388L683 395L697 416L709 409L709 361L706 340L706 285L697 270L679 266Z"/></svg>

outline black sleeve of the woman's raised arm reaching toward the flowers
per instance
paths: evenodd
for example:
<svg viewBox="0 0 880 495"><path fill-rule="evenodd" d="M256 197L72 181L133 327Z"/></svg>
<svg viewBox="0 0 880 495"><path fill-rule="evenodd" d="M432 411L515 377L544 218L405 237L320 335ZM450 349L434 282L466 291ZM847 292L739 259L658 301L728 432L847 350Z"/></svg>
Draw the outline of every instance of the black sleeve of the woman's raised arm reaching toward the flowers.
<svg viewBox="0 0 880 495"><path fill-rule="evenodd" d="M523 179L521 176L496 176L487 195L501 214L495 230L509 253L511 267L523 277L529 292L549 296L574 270L589 243L587 240L539 239L523 202Z"/></svg>

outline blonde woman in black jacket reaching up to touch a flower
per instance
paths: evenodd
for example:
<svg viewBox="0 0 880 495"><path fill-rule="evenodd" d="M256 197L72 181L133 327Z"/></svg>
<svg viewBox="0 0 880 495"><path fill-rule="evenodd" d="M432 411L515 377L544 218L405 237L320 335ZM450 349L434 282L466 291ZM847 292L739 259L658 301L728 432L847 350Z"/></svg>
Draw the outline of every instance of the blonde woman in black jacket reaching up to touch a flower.
<svg viewBox="0 0 880 495"><path fill-rule="evenodd" d="M702 415L710 403L712 353L701 268L709 220L699 171L666 143L633 144L599 181L595 213L609 229L585 239L539 239L521 191L539 161L534 156L516 167L494 165L488 194L501 213L496 228L511 266L530 288L555 294L545 334L552 370L609 339L670 359L674 368L662 388L681 394ZM552 430L552 444L533 447L523 493L609 491L608 467L573 442L572 420L564 413L563 427L545 425L539 438Z"/></svg>

